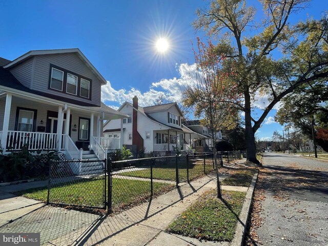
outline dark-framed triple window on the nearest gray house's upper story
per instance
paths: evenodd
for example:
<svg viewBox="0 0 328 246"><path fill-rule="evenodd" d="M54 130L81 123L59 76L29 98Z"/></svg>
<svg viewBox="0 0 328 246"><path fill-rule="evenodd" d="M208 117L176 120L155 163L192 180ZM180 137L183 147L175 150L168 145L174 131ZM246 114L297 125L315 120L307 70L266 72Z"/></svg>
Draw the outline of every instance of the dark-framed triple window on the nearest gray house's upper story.
<svg viewBox="0 0 328 246"><path fill-rule="evenodd" d="M50 65L49 89L91 99L92 80Z"/></svg>

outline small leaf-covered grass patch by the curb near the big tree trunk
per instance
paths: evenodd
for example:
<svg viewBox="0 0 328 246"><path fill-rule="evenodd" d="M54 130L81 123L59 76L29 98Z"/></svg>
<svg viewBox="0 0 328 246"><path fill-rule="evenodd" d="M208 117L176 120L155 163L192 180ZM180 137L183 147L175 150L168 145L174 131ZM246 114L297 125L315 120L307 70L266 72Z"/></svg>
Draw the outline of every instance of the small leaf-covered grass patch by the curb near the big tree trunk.
<svg viewBox="0 0 328 246"><path fill-rule="evenodd" d="M256 171L254 169L236 170L230 177L224 179L221 182L221 185L249 187L255 172Z"/></svg>

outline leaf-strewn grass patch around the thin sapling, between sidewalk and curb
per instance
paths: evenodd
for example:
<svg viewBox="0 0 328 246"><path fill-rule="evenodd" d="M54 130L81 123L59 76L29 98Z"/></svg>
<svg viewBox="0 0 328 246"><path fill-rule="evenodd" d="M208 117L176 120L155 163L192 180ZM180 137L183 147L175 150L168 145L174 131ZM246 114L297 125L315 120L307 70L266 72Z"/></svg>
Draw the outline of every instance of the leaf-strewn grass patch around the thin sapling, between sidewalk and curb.
<svg viewBox="0 0 328 246"><path fill-rule="evenodd" d="M224 202L216 198L216 190L204 193L167 231L201 240L232 241L245 193L222 191L222 197Z"/></svg>

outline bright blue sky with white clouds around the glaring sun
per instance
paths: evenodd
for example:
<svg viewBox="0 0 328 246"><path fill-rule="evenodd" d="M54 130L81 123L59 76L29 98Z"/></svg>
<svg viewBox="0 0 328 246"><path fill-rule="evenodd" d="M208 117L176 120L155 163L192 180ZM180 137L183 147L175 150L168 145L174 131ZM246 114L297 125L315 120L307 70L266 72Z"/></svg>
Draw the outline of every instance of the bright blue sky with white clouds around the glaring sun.
<svg viewBox="0 0 328 246"><path fill-rule="evenodd" d="M256 1L250 4L258 6ZM107 105L117 108L134 95L141 106L152 105L160 95L174 100L181 95L183 72L193 65L191 40L203 37L191 26L195 11L206 5L199 0L2 0L0 57L12 60L30 50L79 48L109 81L102 93ZM327 9L328 1L315 0L291 22L317 19ZM168 39L168 52L154 48L159 37ZM259 98L258 105L263 102ZM274 114L265 119L258 138L282 131Z"/></svg>

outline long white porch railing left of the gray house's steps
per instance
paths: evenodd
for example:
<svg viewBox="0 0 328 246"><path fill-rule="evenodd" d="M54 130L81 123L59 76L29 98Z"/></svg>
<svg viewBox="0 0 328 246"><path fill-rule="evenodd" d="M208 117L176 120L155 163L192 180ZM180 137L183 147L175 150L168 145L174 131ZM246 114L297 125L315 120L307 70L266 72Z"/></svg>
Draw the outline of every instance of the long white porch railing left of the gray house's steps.
<svg viewBox="0 0 328 246"><path fill-rule="evenodd" d="M27 145L29 150L55 150L56 133L8 131L7 149L21 150Z"/></svg>

